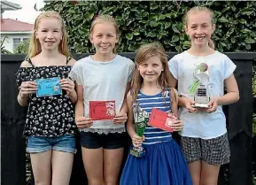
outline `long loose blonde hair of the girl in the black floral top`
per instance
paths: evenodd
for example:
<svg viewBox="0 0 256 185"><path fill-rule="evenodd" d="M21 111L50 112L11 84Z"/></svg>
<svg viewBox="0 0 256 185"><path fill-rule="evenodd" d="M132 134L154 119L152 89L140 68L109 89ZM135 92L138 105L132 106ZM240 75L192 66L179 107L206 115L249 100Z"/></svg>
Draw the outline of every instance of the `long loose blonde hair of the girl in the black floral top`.
<svg viewBox="0 0 256 185"><path fill-rule="evenodd" d="M33 58L42 51L41 44L38 41L38 39L36 39L36 37L35 37L35 32L38 29L38 25L39 25L40 21L42 19L48 19L48 18L56 18L61 22L61 31L62 31L63 36L62 36L62 40L58 44L58 50L59 50L60 53L62 53L66 57L69 57L70 54L69 54L69 50L68 50L68 46L67 46L67 34L66 34L66 28L65 28L64 21L60 17L60 15L58 14L58 12L47 11L47 12L42 12L35 19L35 24L34 24L34 27L33 27L33 33L32 33L31 38L30 38L27 58Z"/></svg>

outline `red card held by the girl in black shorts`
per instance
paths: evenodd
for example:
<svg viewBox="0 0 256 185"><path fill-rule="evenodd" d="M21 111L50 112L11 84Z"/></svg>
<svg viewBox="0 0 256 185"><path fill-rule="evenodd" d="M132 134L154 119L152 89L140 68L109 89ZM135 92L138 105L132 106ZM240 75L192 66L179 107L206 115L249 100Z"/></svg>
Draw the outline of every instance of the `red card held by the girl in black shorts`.
<svg viewBox="0 0 256 185"><path fill-rule="evenodd" d="M89 117L92 120L113 119L115 101L89 101Z"/></svg>

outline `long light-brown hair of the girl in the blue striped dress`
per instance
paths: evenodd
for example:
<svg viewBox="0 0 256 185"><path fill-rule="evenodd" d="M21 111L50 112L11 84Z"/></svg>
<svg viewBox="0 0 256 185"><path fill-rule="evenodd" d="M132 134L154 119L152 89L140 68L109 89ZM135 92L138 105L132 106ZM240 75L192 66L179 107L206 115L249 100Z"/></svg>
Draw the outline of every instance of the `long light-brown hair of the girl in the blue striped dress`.
<svg viewBox="0 0 256 185"><path fill-rule="evenodd" d="M175 93L171 86L171 73L168 68L167 53L164 47L159 42L151 42L142 45L136 53L136 66L142 65L147 59L151 57L159 57L163 71L159 76L159 85L164 89L171 89L172 93ZM131 88L133 89L133 101L136 101L136 97L139 89L142 88L144 82L139 70L135 70L131 81ZM164 94L164 91L162 92Z"/></svg>

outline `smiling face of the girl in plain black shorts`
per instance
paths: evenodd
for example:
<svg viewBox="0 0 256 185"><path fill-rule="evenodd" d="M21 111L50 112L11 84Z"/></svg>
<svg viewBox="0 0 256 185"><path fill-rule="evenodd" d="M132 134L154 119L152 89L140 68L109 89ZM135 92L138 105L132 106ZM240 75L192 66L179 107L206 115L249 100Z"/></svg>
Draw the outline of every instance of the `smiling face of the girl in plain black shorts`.
<svg viewBox="0 0 256 185"><path fill-rule="evenodd" d="M118 35L112 23L102 22L94 25L89 39L98 54L109 55L118 42Z"/></svg>

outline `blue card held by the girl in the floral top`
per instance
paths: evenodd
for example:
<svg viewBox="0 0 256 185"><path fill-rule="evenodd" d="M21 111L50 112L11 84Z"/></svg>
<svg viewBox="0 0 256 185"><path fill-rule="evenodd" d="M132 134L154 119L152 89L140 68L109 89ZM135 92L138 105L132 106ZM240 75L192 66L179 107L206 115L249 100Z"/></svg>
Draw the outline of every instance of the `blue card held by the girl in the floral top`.
<svg viewBox="0 0 256 185"><path fill-rule="evenodd" d="M36 79L36 97L62 95L60 78Z"/></svg>

